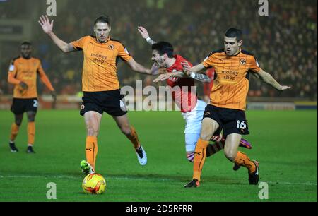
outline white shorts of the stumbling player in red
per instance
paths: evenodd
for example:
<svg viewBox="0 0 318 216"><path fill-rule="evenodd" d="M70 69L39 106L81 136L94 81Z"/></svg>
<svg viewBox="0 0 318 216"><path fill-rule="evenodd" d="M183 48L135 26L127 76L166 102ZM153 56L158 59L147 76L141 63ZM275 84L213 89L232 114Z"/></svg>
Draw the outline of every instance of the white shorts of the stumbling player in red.
<svg viewBox="0 0 318 216"><path fill-rule="evenodd" d="M202 100L198 100L196 107L191 112L184 112L182 116L186 121L184 128L185 144L187 152L194 152L196 143L201 133L201 123L204 116L204 110L206 109L206 103Z"/></svg>

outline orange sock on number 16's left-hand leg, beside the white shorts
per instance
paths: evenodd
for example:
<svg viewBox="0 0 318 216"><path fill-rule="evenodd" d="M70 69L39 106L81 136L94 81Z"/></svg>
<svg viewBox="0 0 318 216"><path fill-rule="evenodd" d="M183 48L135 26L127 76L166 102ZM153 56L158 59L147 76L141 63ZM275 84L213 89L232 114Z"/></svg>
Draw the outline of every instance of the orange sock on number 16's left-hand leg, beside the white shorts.
<svg viewBox="0 0 318 216"><path fill-rule="evenodd" d="M193 179L198 179L200 181L201 171L206 160L206 148L208 146L208 141L199 139L196 143L196 150L194 154L194 164L193 164Z"/></svg>

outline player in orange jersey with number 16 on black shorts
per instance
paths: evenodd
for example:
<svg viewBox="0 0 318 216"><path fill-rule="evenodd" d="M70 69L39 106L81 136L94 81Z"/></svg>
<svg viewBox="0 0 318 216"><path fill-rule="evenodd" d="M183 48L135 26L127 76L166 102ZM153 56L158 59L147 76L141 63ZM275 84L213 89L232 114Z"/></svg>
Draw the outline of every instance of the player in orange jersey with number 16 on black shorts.
<svg viewBox="0 0 318 216"><path fill-rule="evenodd" d="M258 184L259 167L257 161L239 152L238 146L242 135L249 134L245 108L249 90L249 74L256 76L276 90L288 90L290 87L279 84L269 73L259 67L253 54L241 49L242 31L230 28L225 32L225 48L212 52L201 64L192 68L184 63L184 73L199 76L204 68L215 68L215 80L211 90L211 102L206 107L202 121L201 135L196 144L194 174L192 181L185 187L199 186L201 170L206 158L206 147L211 135L223 128L225 157L231 162L246 167L249 184Z"/></svg>

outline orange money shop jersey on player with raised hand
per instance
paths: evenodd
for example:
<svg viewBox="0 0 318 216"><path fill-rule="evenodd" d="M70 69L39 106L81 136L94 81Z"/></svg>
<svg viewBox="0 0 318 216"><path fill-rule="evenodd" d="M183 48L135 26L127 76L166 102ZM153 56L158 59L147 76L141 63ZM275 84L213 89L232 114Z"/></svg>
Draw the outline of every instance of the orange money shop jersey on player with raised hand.
<svg viewBox="0 0 318 216"><path fill-rule="evenodd" d="M82 37L71 43L76 50L83 50L82 89L84 92L101 92L119 89L117 63L119 59L129 61L124 45L110 37L104 43L93 36Z"/></svg>

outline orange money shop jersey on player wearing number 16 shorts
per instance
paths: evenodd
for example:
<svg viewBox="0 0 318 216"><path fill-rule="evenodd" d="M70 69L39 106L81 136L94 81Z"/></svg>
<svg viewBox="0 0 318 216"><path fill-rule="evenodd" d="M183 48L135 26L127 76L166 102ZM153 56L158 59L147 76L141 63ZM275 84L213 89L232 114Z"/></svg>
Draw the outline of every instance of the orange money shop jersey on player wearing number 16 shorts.
<svg viewBox="0 0 318 216"><path fill-rule="evenodd" d="M253 54L240 50L236 56L228 56L224 49L212 52L202 64L215 68L215 80L211 89L211 104L229 109L246 109L249 90L249 72L261 70Z"/></svg>

